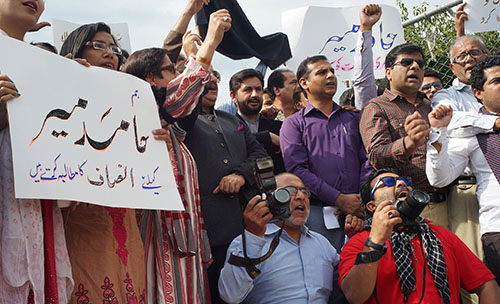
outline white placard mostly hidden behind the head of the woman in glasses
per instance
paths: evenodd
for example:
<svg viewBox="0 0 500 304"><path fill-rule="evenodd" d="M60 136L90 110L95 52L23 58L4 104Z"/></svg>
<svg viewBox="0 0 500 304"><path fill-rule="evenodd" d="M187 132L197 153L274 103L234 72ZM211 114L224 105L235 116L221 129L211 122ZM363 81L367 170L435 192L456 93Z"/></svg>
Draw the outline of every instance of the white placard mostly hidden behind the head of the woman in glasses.
<svg viewBox="0 0 500 304"><path fill-rule="evenodd" d="M51 24L52 34L54 35L54 46L57 48L57 51L61 50L64 40L68 38L68 35L82 25L58 19L53 19ZM132 47L130 46L130 36L127 24L110 23L108 26L111 28L111 34L115 37L120 48L126 50L130 54Z"/></svg>

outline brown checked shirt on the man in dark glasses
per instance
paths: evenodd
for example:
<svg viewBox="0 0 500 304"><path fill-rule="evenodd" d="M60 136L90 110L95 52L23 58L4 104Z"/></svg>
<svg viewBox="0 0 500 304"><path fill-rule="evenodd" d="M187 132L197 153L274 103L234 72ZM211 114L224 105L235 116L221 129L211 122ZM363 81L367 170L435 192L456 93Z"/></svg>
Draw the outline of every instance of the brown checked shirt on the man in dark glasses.
<svg viewBox="0 0 500 304"><path fill-rule="evenodd" d="M431 102L424 93L417 94L413 105L404 97L385 90L365 105L359 128L363 130L361 136L375 168L393 168L400 175L411 177L415 188L432 191L425 176L425 145L407 157L403 143L408 135L404 127L406 117L415 111L429 122L427 115L431 112Z"/></svg>

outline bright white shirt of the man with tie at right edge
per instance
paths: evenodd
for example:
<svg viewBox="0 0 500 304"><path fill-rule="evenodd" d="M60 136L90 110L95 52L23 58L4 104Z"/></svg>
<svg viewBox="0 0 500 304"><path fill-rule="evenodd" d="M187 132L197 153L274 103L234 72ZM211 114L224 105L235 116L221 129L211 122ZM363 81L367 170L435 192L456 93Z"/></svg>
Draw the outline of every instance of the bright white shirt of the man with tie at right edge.
<svg viewBox="0 0 500 304"><path fill-rule="evenodd" d="M429 182L438 187L448 185L470 164L477 178L481 235L500 232L500 184L479 147L477 137L448 138L446 131L446 128L431 130L431 139L436 138L432 143L438 141L442 143L442 148L438 152L431 145L431 140L427 144L426 173Z"/></svg>

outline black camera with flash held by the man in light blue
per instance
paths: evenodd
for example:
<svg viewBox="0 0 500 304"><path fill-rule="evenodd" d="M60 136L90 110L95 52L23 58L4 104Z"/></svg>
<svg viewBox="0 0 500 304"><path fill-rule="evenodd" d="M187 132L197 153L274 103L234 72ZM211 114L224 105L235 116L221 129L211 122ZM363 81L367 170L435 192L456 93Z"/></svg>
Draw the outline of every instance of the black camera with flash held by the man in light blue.
<svg viewBox="0 0 500 304"><path fill-rule="evenodd" d="M276 189L274 163L270 157L255 160L254 174L259 193L264 193L267 206L273 215L269 223L284 221L290 217L290 193L284 188Z"/></svg>

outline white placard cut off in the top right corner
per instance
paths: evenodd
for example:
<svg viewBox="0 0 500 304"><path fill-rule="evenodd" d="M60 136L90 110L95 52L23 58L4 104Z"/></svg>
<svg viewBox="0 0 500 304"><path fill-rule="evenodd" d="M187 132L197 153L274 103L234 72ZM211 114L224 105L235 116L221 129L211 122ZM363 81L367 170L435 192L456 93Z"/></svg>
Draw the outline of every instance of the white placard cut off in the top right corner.
<svg viewBox="0 0 500 304"><path fill-rule="evenodd" d="M500 1L467 0L464 11L467 13L465 33L500 30Z"/></svg>

